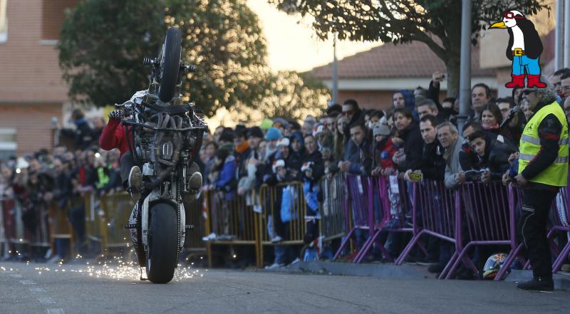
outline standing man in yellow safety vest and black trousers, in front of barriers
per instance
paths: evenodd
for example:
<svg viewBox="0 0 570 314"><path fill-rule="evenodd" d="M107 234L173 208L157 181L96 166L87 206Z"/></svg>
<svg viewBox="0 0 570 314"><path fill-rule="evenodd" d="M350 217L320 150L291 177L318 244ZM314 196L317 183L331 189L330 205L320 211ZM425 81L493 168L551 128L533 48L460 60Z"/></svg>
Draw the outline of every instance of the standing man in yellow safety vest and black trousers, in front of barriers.
<svg viewBox="0 0 570 314"><path fill-rule="evenodd" d="M517 183L524 187L522 239L533 268L533 278L519 283L529 291L552 291L552 264L546 224L552 201L568 183L568 122L553 88L523 91L534 112L522 133Z"/></svg>

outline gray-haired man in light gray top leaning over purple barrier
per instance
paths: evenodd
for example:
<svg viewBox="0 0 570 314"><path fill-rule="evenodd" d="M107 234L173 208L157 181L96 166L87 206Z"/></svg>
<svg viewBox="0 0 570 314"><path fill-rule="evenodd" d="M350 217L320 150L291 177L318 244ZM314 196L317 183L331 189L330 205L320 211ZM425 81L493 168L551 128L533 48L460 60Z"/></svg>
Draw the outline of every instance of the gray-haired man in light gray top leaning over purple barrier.
<svg viewBox="0 0 570 314"><path fill-rule="evenodd" d="M443 122L437 125L437 139L440 140L441 146L445 150L443 159L445 159L445 187L453 189L460 184L465 183L465 172L461 169L459 162L459 152L463 138L457 132L457 127L450 122Z"/></svg>

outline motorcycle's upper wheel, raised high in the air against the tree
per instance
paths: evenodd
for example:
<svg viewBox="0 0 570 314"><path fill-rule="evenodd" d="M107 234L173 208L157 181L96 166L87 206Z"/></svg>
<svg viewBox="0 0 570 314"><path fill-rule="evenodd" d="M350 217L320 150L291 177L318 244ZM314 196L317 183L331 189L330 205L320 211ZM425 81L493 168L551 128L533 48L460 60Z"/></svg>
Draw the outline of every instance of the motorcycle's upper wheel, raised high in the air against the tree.
<svg viewBox="0 0 570 314"><path fill-rule="evenodd" d="M167 103L175 96L180 71L180 52L182 51L182 35L177 28L171 27L166 31L162 47L162 62L160 64L160 88L158 98Z"/></svg>

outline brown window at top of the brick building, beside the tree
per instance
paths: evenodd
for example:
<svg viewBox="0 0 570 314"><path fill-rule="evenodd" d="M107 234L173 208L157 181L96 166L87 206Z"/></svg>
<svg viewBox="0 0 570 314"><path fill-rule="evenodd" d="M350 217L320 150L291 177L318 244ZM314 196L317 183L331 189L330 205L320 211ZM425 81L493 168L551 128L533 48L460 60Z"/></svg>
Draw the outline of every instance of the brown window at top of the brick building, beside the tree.
<svg viewBox="0 0 570 314"><path fill-rule="evenodd" d="M80 0L42 1L41 38L43 42L51 43L59 39L63 19L66 18L65 10L67 8L73 8L79 1Z"/></svg>

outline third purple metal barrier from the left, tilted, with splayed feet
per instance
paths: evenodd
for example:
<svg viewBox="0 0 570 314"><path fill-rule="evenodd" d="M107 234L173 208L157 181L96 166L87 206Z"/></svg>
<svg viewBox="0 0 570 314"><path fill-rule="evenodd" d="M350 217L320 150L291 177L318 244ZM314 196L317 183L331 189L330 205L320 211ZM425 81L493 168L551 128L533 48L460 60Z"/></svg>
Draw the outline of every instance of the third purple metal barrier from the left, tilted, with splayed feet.
<svg viewBox="0 0 570 314"><path fill-rule="evenodd" d="M422 213L423 226L421 231L414 233L410 243L396 260L396 265L401 265L404 262L405 258L415 244L418 243L418 240L423 234L430 234L431 236L455 244L455 212L457 210L455 193L450 189L446 189L443 182L425 180L417 184L417 186L419 188L415 189L415 195L419 198L418 205ZM418 227L416 228L419 229ZM443 278L456 257L457 252L455 252L449 263L447 263L440 278Z"/></svg>

